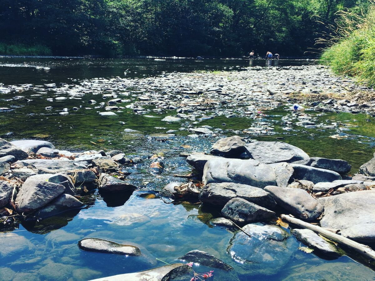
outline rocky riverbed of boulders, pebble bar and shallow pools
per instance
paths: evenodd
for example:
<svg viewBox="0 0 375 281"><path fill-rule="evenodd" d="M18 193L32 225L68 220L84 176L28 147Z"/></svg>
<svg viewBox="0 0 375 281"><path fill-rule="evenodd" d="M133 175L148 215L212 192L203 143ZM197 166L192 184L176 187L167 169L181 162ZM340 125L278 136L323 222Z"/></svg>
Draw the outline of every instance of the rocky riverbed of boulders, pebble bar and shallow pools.
<svg viewBox="0 0 375 281"><path fill-rule="evenodd" d="M330 159L339 143L374 141L348 120L371 120L373 90L321 66L239 68L1 87L2 117L34 111L29 118L48 120L58 139L0 139L1 279L374 278L366 258L280 219L373 245L375 158ZM294 102L306 110L290 110ZM121 145L95 130L90 150L57 138L82 130L62 118L88 116L86 127L102 123L108 134L121 123ZM302 132L308 153L280 141Z"/></svg>

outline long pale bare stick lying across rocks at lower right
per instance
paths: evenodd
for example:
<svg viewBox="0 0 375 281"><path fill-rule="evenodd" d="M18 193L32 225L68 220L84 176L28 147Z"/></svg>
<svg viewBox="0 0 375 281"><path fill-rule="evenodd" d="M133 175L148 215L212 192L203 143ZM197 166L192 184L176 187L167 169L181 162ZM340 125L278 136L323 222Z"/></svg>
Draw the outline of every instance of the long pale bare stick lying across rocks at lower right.
<svg viewBox="0 0 375 281"><path fill-rule="evenodd" d="M375 251L372 250L369 246L360 244L360 243L358 243L356 241L353 241L349 238L346 238L344 236L341 236L341 235L338 235L336 233L330 232L329 230L324 229L323 227L315 226L314 224L311 224L311 223L306 223L305 221L299 220L298 218L291 217L290 215L281 215L280 217L283 218L284 220L289 221L290 223L292 223L296 226L303 227L303 228L310 229L310 230L313 230L315 232L318 232L320 235L322 235L322 236L324 236L328 239L331 239L332 241L335 241L335 242L338 242L342 245L345 245L346 247L357 251L358 253L362 254L363 256L368 257L372 261L375 261Z"/></svg>

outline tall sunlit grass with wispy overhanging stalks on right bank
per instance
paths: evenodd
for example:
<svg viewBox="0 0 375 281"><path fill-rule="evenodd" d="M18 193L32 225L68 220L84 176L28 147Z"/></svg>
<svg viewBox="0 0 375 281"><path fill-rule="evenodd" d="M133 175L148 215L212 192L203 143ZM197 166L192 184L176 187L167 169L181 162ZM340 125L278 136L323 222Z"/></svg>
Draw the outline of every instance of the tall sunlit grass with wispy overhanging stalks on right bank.
<svg viewBox="0 0 375 281"><path fill-rule="evenodd" d="M358 82L375 86L375 5L366 13L340 11L330 32L317 42L324 43L320 63L335 73L353 76ZM333 30L333 31L332 31Z"/></svg>

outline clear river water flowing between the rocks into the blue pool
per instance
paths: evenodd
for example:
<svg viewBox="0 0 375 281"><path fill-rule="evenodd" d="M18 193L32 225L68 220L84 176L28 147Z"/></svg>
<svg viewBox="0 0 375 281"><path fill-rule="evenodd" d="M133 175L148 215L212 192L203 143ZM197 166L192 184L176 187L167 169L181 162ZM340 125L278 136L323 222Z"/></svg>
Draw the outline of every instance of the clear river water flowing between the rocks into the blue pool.
<svg viewBox="0 0 375 281"><path fill-rule="evenodd" d="M279 65L306 63L309 62L280 61ZM266 63L260 60L253 61L253 64L265 66ZM71 84L86 78L123 77L126 69L130 70L127 77L135 78L159 75L163 71L234 71L245 66L249 66L249 61L0 58L0 83ZM145 196L153 194L149 190L160 190L168 182L185 181L173 176L191 171L185 159L178 156L179 152L207 151L216 139L223 136L239 134L249 137L242 131L259 122L267 122L275 129L268 137L254 137L255 139L271 141L275 139L269 138L270 136L283 138L283 141L302 148L311 156L347 160L353 166L351 173L354 173L361 164L372 158L375 145L374 118L362 114L322 114L307 111L306 113L317 118L314 121L317 124L337 122L340 125L332 129L305 129L293 125L293 130L285 131L282 129L286 127L282 118L290 116L291 112L279 108L263 112L257 120L219 116L201 121L199 125L209 125L223 131L216 137L191 139L187 137L189 132L178 130L181 126L186 127L190 121L184 120L175 124L160 121L162 117L174 114L174 111L160 115L150 112L150 115L157 118L135 115L130 109L123 110L117 113L117 117L112 118L99 116L95 109L70 111L69 115L59 115L59 110L79 106L92 97L86 95L82 100L51 103L46 101L46 98L53 97L52 93L47 91L42 96L31 96L33 94L33 91L1 94L0 107L13 109L0 112L0 134L3 138L43 139L54 143L59 149L71 151L120 149L129 155L148 155L163 151L165 171L158 176L151 175L147 171L150 161L145 160L124 168L131 172L129 178L139 187L133 194L123 193L108 197L93 191L83 194L81 200L87 204L87 208L80 211L67 212L39 222L15 220L14 223L3 224L0 227L0 280L90 280L164 265L157 259L167 263L178 262L178 257L195 249L213 254L233 266L232 273L214 269L213 280L375 280L375 273L354 261L353 259L360 258L353 253L349 253L350 257L327 260L314 253L298 250L300 244L294 237L289 238L288 251L278 256L275 264L259 260L254 265L241 265L234 262L227 251L234 233L213 227L209 223L211 218L219 216L218 210L199 203L171 203L164 202L157 196ZM32 101L15 99L15 96L24 96ZM46 112L46 106L53 106L54 110ZM222 123L226 123L226 126ZM349 131L342 131L339 127ZM123 131L125 128L139 130L142 134L126 134ZM170 129L178 130L171 138L155 135L164 134ZM9 132L12 133L5 135ZM336 134L347 138L329 137ZM147 138L149 136L151 138ZM190 148L183 148L181 145L190 145ZM136 245L143 256L124 257L81 251L77 242L89 237ZM265 242L264 247L267 245ZM211 269L199 266L195 267L195 270L206 272ZM179 280L190 278L189 275Z"/></svg>

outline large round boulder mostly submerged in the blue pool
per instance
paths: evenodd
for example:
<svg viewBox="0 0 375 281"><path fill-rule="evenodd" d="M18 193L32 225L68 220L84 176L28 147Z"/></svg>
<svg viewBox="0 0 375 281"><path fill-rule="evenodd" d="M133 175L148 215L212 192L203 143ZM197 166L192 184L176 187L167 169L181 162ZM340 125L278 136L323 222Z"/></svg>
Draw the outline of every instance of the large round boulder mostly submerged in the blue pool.
<svg viewBox="0 0 375 281"><path fill-rule="evenodd" d="M247 224L236 232L227 253L237 262L236 271L243 268L246 274L275 275L289 262L299 243L284 229L275 225Z"/></svg>

